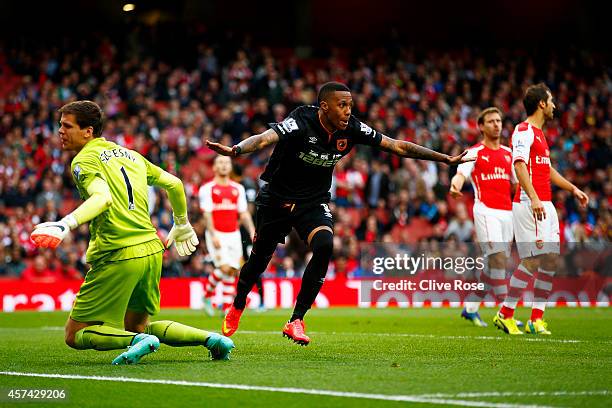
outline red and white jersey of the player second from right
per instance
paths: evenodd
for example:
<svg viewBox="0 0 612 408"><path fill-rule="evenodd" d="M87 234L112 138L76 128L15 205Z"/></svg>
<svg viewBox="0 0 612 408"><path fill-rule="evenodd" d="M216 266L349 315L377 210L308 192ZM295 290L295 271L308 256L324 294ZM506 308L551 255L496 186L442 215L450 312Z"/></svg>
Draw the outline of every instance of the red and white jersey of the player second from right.
<svg viewBox="0 0 612 408"><path fill-rule="evenodd" d="M512 150L507 146L490 149L477 143L468 149L468 157L475 161L461 163L457 173L472 179L476 202L497 210L512 210L510 181L514 181Z"/></svg>

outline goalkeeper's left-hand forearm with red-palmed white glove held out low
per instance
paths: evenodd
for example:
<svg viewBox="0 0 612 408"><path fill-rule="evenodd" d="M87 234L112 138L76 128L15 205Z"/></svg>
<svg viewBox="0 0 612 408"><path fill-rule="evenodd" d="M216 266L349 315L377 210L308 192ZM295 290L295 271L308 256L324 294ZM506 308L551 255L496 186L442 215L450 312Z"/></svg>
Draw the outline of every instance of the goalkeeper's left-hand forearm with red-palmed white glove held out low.
<svg viewBox="0 0 612 408"><path fill-rule="evenodd" d="M89 198L85 200L76 210L57 222L43 222L34 227L30 239L41 248L57 248L58 245L68 236L70 230L84 224L113 205L108 184L103 179L94 178L87 186Z"/></svg>

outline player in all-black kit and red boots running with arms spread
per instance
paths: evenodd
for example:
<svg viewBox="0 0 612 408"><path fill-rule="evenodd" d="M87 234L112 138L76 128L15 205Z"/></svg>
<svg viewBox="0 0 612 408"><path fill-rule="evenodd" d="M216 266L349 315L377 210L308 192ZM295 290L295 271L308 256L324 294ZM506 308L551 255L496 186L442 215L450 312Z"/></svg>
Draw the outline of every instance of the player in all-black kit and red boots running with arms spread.
<svg viewBox="0 0 612 408"><path fill-rule="evenodd" d="M276 144L261 179L268 182L257 196L256 234L249 260L238 280L238 293L223 322L223 333L237 329L246 297L261 275L279 242L295 228L312 250L312 258L302 277L293 314L283 335L306 345L304 315L319 293L333 250L333 217L330 199L335 164L357 144L372 146L401 157L439 161L454 165L465 152L448 156L414 143L389 138L351 115L353 97L345 85L328 82L319 90L319 106L301 106L270 129L229 147L207 141L207 145L227 156L252 153Z"/></svg>

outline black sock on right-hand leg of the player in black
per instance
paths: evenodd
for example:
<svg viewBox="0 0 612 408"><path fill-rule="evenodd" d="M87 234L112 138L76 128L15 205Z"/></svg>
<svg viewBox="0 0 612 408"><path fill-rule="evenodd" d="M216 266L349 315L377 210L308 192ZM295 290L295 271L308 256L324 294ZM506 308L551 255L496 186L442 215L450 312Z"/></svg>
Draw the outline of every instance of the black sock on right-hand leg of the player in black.
<svg viewBox="0 0 612 408"><path fill-rule="evenodd" d="M290 321L304 320L304 315L314 303L327 274L327 266L333 252L333 235L327 230L319 231L310 242L312 258L306 265L302 286L295 302Z"/></svg>

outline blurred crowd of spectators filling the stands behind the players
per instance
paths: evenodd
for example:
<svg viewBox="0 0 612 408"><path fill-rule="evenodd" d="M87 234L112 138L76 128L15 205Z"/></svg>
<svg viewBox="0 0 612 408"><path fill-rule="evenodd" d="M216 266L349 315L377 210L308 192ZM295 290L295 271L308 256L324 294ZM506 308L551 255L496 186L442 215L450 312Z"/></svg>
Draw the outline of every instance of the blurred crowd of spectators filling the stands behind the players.
<svg viewBox="0 0 612 408"><path fill-rule="evenodd" d="M0 47L0 276L29 280L80 279L86 271L87 226L56 252L37 250L32 226L59 220L79 202L70 174L71 153L57 137L57 109L77 99L100 104L103 136L179 175L190 219L203 241L198 189L212 177L214 153L206 139L231 145L280 121L295 107L315 104L317 85L335 80L353 91L353 113L375 129L448 154L479 138L476 117L487 106L504 113L504 143L524 119L522 93L543 80L558 117L545 133L554 165L583 189L586 210L555 191L562 241L605 244L612 238L612 79L596 54L565 50L532 55L505 50L418 52L411 48L354 53L327 50L324 58L297 58L292 50L228 49L202 42L192 64L125 50L108 38L26 51ZM236 179L251 202L271 150L234 160ZM359 270L362 243L473 239L473 197L449 198L455 169L399 159L369 148L338 163L332 186L335 253L331 276ZM466 192L470 187L466 186ZM163 238L172 226L169 203L151 189L151 216ZM268 276L299 276L307 249L292 234L277 249ZM164 276L210 271L205 246L189 259L166 251Z"/></svg>

